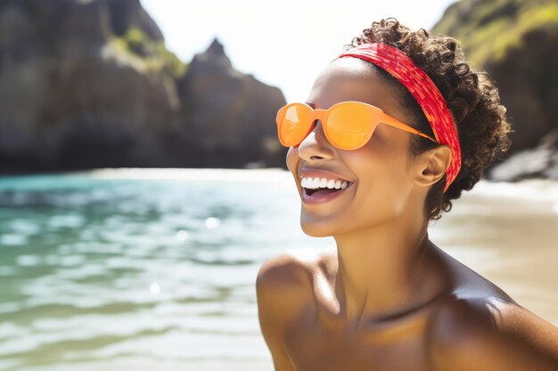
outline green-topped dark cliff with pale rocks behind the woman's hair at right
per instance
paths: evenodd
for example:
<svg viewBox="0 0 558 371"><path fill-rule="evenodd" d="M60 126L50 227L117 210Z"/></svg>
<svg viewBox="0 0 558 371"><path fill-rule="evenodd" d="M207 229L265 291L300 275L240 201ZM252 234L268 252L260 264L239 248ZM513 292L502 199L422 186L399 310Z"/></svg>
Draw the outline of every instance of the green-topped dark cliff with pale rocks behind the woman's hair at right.
<svg viewBox="0 0 558 371"><path fill-rule="evenodd" d="M515 131L513 158L488 177L558 178L558 3L462 0L447 8L431 33L459 39L467 59L486 69L500 90Z"/></svg>

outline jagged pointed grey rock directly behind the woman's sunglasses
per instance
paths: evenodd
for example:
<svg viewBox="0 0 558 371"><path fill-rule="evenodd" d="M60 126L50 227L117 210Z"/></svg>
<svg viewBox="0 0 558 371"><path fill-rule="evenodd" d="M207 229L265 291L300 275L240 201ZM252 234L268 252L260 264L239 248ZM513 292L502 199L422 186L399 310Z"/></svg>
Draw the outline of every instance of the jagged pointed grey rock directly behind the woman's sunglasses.
<svg viewBox="0 0 558 371"><path fill-rule="evenodd" d="M178 92L201 165L284 165L275 126L283 93L235 70L217 40L194 56Z"/></svg>

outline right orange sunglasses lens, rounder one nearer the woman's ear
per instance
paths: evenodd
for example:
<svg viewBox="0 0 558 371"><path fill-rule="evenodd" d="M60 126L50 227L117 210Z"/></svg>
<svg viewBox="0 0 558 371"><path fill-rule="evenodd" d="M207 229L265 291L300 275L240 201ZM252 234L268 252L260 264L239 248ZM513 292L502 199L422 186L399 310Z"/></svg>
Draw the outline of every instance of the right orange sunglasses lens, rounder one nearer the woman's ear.
<svg viewBox="0 0 558 371"><path fill-rule="evenodd" d="M327 117L327 135L340 149L358 149L370 139L373 128L372 111L361 104L340 104Z"/></svg>

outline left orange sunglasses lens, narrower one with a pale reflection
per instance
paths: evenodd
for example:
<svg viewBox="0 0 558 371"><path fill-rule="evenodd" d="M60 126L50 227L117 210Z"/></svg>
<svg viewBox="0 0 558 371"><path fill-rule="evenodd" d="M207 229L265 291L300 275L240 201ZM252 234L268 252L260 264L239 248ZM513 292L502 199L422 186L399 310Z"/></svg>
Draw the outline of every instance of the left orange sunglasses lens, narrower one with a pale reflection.
<svg viewBox="0 0 558 371"><path fill-rule="evenodd" d="M287 147L298 146L308 135L311 127L312 109L295 104L285 107L277 117L279 125L279 138Z"/></svg>

